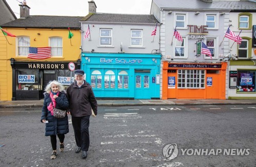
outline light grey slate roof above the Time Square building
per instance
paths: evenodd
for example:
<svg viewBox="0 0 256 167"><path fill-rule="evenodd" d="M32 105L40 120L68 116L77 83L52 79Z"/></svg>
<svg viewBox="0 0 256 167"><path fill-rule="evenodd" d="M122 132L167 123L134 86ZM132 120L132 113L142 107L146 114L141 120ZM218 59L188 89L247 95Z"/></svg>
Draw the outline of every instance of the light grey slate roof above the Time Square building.
<svg viewBox="0 0 256 167"><path fill-rule="evenodd" d="M202 9L202 10L256 10L256 3L250 1L212 1L201 0L153 0L159 8L169 9Z"/></svg>

